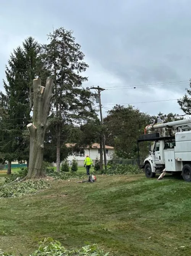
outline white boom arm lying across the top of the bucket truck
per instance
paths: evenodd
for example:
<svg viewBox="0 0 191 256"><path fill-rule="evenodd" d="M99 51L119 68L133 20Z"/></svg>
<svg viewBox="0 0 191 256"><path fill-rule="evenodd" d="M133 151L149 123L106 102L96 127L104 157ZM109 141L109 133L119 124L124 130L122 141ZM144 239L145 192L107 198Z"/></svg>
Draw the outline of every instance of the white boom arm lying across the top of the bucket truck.
<svg viewBox="0 0 191 256"><path fill-rule="evenodd" d="M167 122L167 123L149 124L148 126L146 126L145 129L149 131L149 130L155 130L155 129L165 128L165 127L173 127L173 129L175 129L176 127L181 127L182 130L185 130L185 129L191 129L191 127L189 126L191 126L191 119L183 119L183 120Z"/></svg>

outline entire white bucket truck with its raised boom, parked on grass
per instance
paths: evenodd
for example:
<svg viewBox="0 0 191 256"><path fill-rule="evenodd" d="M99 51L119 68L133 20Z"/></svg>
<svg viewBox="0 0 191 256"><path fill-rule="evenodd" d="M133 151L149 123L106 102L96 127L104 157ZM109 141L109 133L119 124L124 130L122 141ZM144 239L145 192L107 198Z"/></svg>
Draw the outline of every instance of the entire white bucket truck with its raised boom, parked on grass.
<svg viewBox="0 0 191 256"><path fill-rule="evenodd" d="M141 141L149 141L149 156L141 167L146 177L167 172L182 175L185 181L191 181L191 119L173 122L158 119L146 126L145 134L139 137L138 152ZM152 150L151 142L154 142Z"/></svg>

